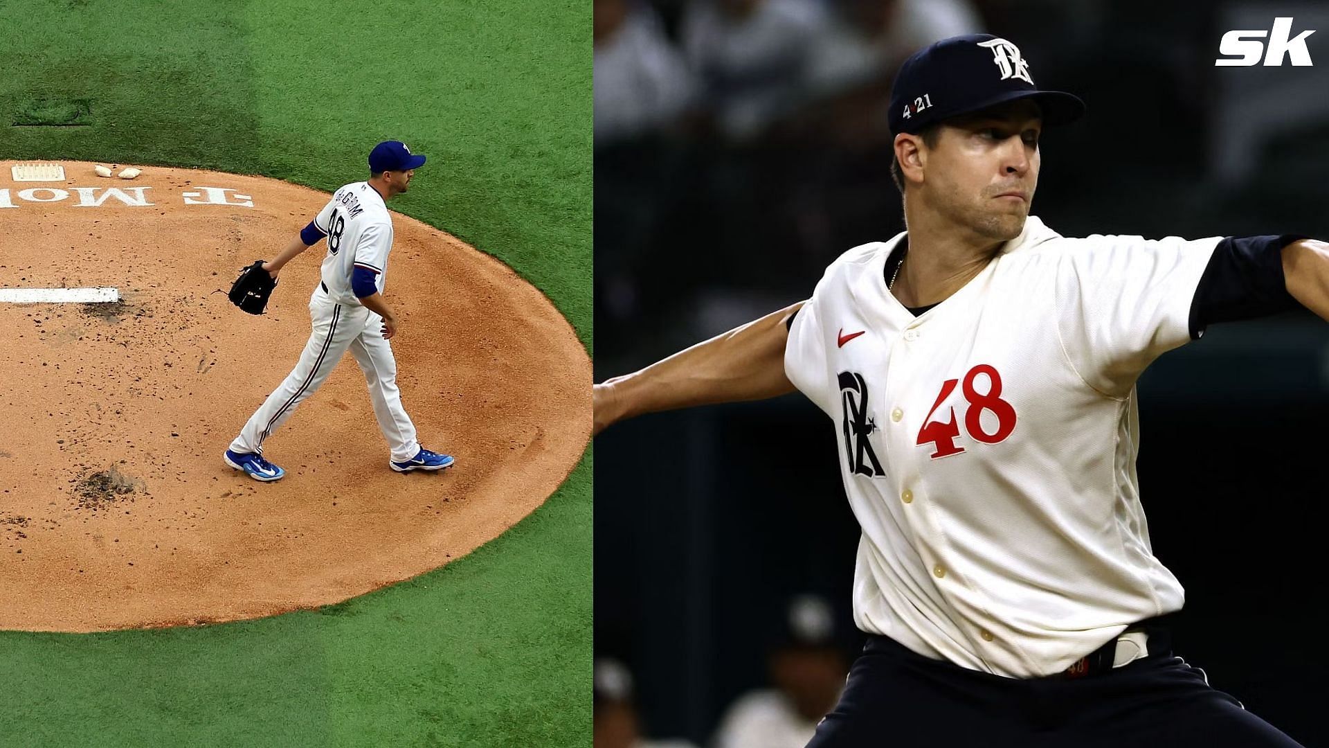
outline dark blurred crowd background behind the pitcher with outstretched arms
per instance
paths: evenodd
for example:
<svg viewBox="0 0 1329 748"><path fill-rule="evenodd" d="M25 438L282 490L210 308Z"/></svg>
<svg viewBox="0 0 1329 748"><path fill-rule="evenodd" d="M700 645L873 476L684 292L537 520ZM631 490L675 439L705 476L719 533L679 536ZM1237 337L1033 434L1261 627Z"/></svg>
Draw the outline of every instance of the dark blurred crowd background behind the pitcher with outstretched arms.
<svg viewBox="0 0 1329 748"><path fill-rule="evenodd" d="M1318 67L1215 67L1225 31L1276 16L1324 29L1308 40ZM894 72L971 32L1009 39L1041 88L1088 106L1042 138L1033 213L1053 229L1329 238L1326 3L595 0L597 381L807 298L835 257L904 230ZM1215 327L1139 390L1155 552L1188 590L1177 648L1329 744L1309 705L1329 692L1305 667L1329 661L1312 646L1310 522L1329 325ZM595 745L811 735L861 643L832 429L791 395L597 439Z"/></svg>

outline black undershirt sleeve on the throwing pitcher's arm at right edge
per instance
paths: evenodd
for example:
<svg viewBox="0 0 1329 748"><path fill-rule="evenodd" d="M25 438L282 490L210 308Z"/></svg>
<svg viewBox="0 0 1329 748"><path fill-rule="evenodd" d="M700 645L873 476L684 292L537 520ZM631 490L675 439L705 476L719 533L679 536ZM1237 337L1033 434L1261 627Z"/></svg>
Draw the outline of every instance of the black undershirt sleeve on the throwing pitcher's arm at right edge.
<svg viewBox="0 0 1329 748"><path fill-rule="evenodd" d="M1228 237L1213 248L1191 301L1191 339L1215 322L1255 319L1297 309L1282 277L1282 248L1301 234Z"/></svg>

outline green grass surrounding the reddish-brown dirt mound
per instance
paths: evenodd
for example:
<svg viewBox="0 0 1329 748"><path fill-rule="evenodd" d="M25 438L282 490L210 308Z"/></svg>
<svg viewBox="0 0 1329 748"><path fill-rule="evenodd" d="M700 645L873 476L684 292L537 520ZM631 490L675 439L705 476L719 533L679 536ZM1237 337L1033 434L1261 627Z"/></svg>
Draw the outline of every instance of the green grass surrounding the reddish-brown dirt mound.
<svg viewBox="0 0 1329 748"><path fill-rule="evenodd" d="M0 0L0 158L331 190L404 140L429 164L393 209L512 265L594 350L589 5ZM322 611L0 632L0 745L589 745L591 461L470 556Z"/></svg>

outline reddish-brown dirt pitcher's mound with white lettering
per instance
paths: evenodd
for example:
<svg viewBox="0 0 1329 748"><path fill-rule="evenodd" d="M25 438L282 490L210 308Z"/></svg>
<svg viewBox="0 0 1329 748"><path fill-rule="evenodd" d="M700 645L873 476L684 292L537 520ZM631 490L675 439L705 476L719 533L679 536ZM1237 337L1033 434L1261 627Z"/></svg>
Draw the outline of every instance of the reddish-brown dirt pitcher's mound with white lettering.
<svg viewBox="0 0 1329 748"><path fill-rule="evenodd" d="M282 270L262 317L213 291L280 252L330 196L158 166L108 180L73 161L62 182L15 182L12 165L0 162L0 287L116 287L120 301L0 303L0 628L336 603L497 536L590 438L590 361L549 299L393 214L397 385L420 442L457 462L393 472L347 355L264 442L287 474L260 484L222 453L299 359L326 244ZM431 189L425 169L416 177L412 194Z"/></svg>

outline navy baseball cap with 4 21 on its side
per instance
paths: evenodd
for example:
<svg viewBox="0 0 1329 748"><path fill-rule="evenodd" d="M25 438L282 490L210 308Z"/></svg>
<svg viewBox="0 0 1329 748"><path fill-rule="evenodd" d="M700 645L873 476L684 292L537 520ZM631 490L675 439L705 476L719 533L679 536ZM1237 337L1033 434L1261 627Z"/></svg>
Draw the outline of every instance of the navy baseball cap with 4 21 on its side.
<svg viewBox="0 0 1329 748"><path fill-rule="evenodd" d="M917 133L941 120L1006 101L1031 98L1045 125L1065 125L1084 114L1079 97L1039 91L1029 61L990 33L952 36L930 44L900 67L890 89L890 134Z"/></svg>

